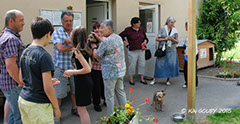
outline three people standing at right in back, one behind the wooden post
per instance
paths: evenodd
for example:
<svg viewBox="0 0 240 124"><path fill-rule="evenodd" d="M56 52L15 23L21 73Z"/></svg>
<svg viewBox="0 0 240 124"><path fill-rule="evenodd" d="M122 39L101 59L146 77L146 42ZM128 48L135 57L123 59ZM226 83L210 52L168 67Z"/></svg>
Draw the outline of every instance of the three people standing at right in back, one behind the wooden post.
<svg viewBox="0 0 240 124"><path fill-rule="evenodd" d="M179 76L179 65L178 65L178 55L176 46L179 43L178 31L175 28L176 20L173 17L168 17L165 25L160 29L156 37L156 44L158 48L166 51L166 54L162 57L156 57L154 77L150 82L151 85L156 83L156 78L167 78L166 84L171 85L170 78ZM187 22L185 23L186 31L188 29ZM131 20L131 26L125 28L119 34L124 44L128 48L128 62L129 62L129 84L135 85L133 80L133 75L135 74L136 67L138 69L138 74L141 76L140 83L148 84L144 80L144 70L145 70L145 47L149 42L146 33L141 27L141 21L138 17L133 17ZM184 41L185 56L187 57L187 37ZM197 40L196 40L197 41ZM197 43L196 43L197 48ZM198 50L196 49L196 58L198 60ZM187 87L187 60L184 60L184 79L185 84L183 87ZM137 65L138 64L138 65ZM197 79L197 75L196 75ZM198 80L196 80L196 86L198 86Z"/></svg>

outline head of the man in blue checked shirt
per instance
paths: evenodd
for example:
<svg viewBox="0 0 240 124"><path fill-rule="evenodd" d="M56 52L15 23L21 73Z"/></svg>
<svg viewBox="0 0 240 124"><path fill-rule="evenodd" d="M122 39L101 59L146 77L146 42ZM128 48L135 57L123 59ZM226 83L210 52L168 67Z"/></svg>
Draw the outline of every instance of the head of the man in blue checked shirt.
<svg viewBox="0 0 240 124"><path fill-rule="evenodd" d="M63 28L67 31L72 30L74 15L70 11L64 11L61 15Z"/></svg>

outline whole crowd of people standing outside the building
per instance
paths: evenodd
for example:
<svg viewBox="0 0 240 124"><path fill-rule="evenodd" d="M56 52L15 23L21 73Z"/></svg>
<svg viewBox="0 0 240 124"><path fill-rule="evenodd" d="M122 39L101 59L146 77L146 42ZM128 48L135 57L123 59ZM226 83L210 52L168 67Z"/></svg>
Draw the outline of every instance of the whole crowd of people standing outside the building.
<svg viewBox="0 0 240 124"><path fill-rule="evenodd" d="M133 75L137 66L140 82L147 84L144 50L149 40L140 18L132 18L131 26L119 35L114 33L111 20L96 22L92 34L98 44L88 42L84 26L73 29L73 18L72 12L62 12L62 27L54 31L48 19L36 17L31 24L33 41L25 47L19 34L24 26L23 13L9 10L5 14L5 28L0 35L0 88L7 99L6 110L10 105L9 124L60 123L60 105L67 96L68 85L72 114L79 116L82 124L91 123L86 106L92 102L100 112L104 100L108 114L114 112L115 95L119 104L125 105L124 44L128 49L129 83L135 84ZM166 55L156 59L152 85L156 78L167 78L170 85L170 78L179 75L175 22L169 17L156 38L159 46L166 46ZM44 49L50 41L54 45L53 61Z"/></svg>

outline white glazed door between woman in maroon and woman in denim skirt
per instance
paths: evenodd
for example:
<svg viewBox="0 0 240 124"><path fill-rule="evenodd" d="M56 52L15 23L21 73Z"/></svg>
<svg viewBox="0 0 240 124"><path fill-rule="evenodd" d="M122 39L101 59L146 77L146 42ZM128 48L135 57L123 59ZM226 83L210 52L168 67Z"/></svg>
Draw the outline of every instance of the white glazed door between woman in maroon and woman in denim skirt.
<svg viewBox="0 0 240 124"><path fill-rule="evenodd" d="M142 22L142 27L146 31L146 35L149 39L147 48L151 50L152 58L146 61L145 74L144 76L153 77L155 69L155 57L156 41L158 30L159 30L159 14L158 5L150 5L139 7L139 17Z"/></svg>

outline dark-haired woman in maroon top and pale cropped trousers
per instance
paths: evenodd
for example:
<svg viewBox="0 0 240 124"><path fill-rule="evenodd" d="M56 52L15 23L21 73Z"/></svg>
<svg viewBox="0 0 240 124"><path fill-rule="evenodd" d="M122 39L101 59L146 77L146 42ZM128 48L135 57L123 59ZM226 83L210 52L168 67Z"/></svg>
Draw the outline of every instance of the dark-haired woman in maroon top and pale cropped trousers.
<svg viewBox="0 0 240 124"><path fill-rule="evenodd" d="M140 18L133 17L130 23L131 26L125 28L125 30L119 34L122 37L124 44L128 46L128 73L130 75L129 84L135 85L135 82L133 81L133 75L135 74L137 66L138 74L141 75L140 83L146 85L147 82L144 80L143 75L145 69L145 47L148 43L148 38L143 27L141 27Z"/></svg>

